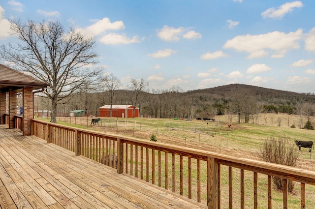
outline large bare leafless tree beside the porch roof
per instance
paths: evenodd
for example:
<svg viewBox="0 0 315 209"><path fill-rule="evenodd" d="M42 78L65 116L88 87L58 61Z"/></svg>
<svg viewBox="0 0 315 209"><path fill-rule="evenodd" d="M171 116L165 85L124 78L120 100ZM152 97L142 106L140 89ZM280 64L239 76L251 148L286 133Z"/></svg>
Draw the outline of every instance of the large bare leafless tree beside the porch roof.
<svg viewBox="0 0 315 209"><path fill-rule="evenodd" d="M36 24L31 20L27 23L10 20L10 23L21 43L2 45L0 58L50 84L45 94L51 99L51 122L56 123L57 104L91 83L100 72L87 68L96 63L95 41L73 29L64 31L59 21Z"/></svg>

